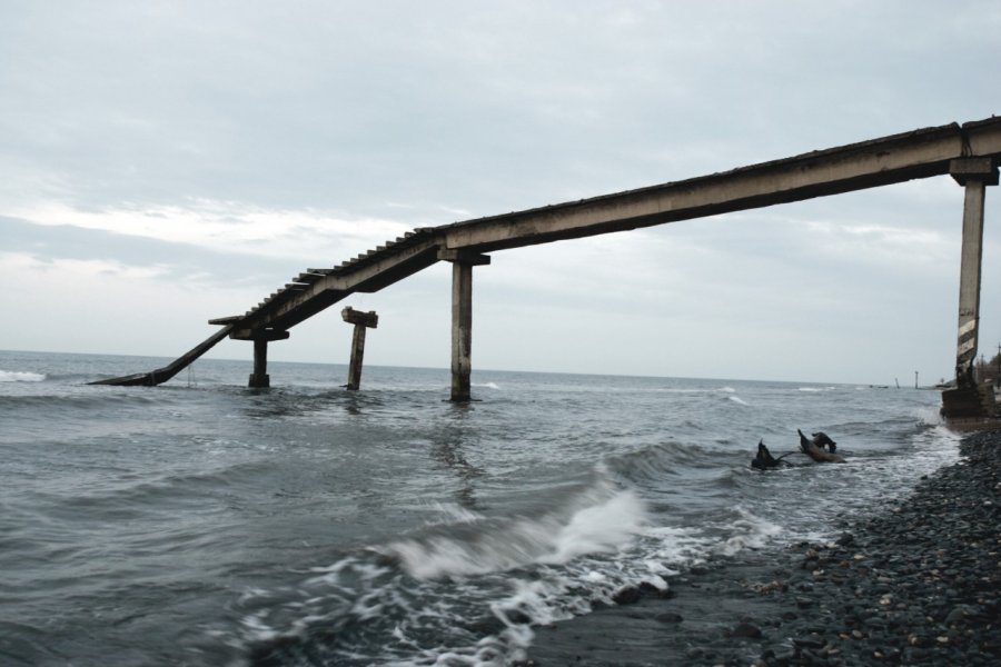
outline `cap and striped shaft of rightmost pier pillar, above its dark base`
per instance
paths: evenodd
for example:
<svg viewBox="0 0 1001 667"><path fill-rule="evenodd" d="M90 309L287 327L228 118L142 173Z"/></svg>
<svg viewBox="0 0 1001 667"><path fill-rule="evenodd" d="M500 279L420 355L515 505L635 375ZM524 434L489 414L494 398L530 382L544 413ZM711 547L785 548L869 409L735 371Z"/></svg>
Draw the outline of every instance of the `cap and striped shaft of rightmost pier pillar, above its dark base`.
<svg viewBox="0 0 1001 667"><path fill-rule="evenodd" d="M983 205L987 186L998 185L998 169L990 158L953 160L950 173L965 188L963 241L960 259L959 335L955 350L955 380L973 387L973 361L980 327L980 276L983 260Z"/></svg>

